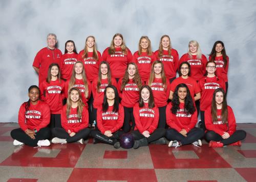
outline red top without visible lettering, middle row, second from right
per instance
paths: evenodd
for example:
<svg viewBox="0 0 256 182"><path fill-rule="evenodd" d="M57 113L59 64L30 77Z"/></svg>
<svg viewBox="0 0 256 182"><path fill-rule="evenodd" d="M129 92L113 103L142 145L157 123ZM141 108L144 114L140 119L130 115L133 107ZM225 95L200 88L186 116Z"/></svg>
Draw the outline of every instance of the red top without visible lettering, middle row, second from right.
<svg viewBox="0 0 256 182"><path fill-rule="evenodd" d="M176 87L177 87L177 85L179 85L179 84L186 84L186 86L188 87L190 95L193 98L193 100L194 100L195 94L199 93L201 91L199 86L198 86L198 84L197 84L197 82L193 78L188 77L187 79L183 79L181 76L177 77L177 79L175 79L172 82L172 84L170 84L170 90L172 92L174 92Z"/></svg>

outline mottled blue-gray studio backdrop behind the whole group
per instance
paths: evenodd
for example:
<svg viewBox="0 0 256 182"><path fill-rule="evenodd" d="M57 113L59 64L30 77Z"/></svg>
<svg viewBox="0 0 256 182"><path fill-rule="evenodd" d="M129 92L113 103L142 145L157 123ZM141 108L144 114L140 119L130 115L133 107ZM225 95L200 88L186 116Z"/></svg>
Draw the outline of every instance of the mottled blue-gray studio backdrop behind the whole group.
<svg viewBox="0 0 256 182"><path fill-rule="evenodd" d="M205 55L222 40L230 60L228 104L237 122L256 122L255 10L255 1L0 0L0 122L17 122L28 87L38 82L32 63L48 33L57 35L62 52L67 40L81 50L86 37L94 35L101 53L115 33L123 34L133 53L142 35L157 50L167 34L180 57L190 40L197 40Z"/></svg>

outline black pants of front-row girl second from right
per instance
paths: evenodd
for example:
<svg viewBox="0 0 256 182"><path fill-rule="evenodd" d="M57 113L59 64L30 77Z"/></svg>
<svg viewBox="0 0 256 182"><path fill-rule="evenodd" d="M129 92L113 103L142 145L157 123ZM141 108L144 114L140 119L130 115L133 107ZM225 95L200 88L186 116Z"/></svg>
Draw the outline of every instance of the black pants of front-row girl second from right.
<svg viewBox="0 0 256 182"><path fill-rule="evenodd" d="M166 131L165 137L168 140L177 140L182 145L191 144L204 136L204 131L202 128L194 127L188 133L187 136L181 135L176 129L169 128Z"/></svg>

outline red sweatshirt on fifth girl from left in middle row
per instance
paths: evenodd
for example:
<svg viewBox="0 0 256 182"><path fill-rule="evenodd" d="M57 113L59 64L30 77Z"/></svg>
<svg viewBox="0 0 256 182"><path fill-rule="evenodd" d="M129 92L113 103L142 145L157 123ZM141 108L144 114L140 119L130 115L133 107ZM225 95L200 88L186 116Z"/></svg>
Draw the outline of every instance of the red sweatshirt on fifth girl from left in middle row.
<svg viewBox="0 0 256 182"><path fill-rule="evenodd" d="M147 82L148 84L148 82ZM154 95L154 100L157 107L164 107L167 105L167 100L170 95L170 83L166 80L166 85L163 87L162 79L154 79L150 86Z"/></svg>

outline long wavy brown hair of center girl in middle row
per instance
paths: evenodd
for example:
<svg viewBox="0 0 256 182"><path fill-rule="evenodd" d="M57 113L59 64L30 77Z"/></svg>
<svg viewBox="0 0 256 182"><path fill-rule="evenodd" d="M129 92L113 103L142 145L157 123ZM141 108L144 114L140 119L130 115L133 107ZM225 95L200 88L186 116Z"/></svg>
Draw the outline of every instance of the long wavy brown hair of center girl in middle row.
<svg viewBox="0 0 256 182"><path fill-rule="evenodd" d="M136 70L134 78L133 78L133 82L137 85L137 87L139 89L142 87L142 82L141 82L141 79L140 79L140 75L139 75L139 71L138 71L137 65L135 63L129 63L127 65L127 68L125 70L125 73L124 73L124 76L123 76L123 79L122 79L121 91L123 90L125 85L129 82L129 74L128 74L129 65L134 65L135 66L135 70Z"/></svg>

